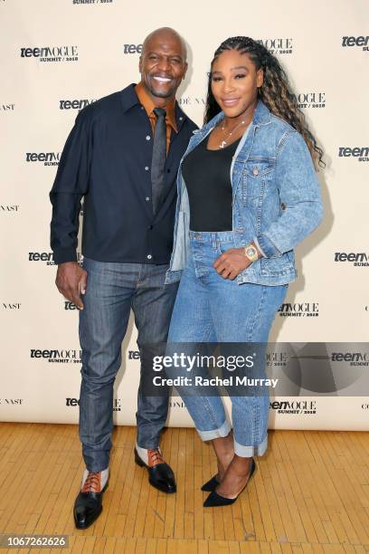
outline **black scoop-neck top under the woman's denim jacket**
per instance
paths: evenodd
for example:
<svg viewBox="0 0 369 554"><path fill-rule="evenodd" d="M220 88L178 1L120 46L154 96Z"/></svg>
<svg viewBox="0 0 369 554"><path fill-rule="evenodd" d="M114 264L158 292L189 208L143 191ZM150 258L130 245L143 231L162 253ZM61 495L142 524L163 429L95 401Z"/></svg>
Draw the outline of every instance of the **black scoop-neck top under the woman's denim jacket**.
<svg viewBox="0 0 369 554"><path fill-rule="evenodd" d="M190 201L191 231L232 231L232 157L241 139L219 150L208 150L208 138L182 165Z"/></svg>

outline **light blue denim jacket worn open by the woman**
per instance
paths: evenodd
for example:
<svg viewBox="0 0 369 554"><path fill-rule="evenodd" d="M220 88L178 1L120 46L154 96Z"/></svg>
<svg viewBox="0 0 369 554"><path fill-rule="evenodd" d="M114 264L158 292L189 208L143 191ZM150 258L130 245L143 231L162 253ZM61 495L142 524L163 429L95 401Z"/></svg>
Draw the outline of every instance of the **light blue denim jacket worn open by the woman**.
<svg viewBox="0 0 369 554"><path fill-rule="evenodd" d="M194 130L177 175L174 248L166 284L179 281L189 250L190 206L182 163L224 117ZM234 248L254 241L263 256L236 281L279 285L297 278L293 248L320 223L323 205L305 140L259 100L231 165Z"/></svg>

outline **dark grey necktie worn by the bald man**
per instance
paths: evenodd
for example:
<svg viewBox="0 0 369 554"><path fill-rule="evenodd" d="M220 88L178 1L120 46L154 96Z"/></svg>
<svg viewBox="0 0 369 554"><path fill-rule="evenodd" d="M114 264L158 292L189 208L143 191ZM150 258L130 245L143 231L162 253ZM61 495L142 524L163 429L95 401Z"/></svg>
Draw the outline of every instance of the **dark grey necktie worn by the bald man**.
<svg viewBox="0 0 369 554"><path fill-rule="evenodd" d="M153 158L151 162L151 190L153 212L156 214L160 196L164 189L164 167L166 166L166 110L155 108L156 125L154 131Z"/></svg>

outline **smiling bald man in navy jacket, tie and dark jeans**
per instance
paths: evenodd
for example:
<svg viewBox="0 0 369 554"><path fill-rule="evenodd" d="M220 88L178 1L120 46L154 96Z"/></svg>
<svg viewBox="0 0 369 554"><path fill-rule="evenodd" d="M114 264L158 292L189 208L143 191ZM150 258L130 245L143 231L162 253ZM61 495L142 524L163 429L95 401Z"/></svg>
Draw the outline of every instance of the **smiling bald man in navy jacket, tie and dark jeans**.
<svg viewBox="0 0 369 554"><path fill-rule="evenodd" d="M175 284L164 284L173 246L175 177L196 129L175 101L186 70L180 35L167 27L150 33L139 59L141 81L81 110L50 193L56 285L80 308L80 441L86 470L74 505L79 529L102 510L113 385L130 309L139 349L167 337L176 294ZM76 256L82 196L83 268ZM168 391L143 394L149 369L141 363L135 461L147 468L153 486L175 492L174 473L159 448Z"/></svg>

